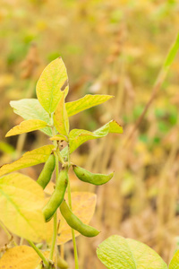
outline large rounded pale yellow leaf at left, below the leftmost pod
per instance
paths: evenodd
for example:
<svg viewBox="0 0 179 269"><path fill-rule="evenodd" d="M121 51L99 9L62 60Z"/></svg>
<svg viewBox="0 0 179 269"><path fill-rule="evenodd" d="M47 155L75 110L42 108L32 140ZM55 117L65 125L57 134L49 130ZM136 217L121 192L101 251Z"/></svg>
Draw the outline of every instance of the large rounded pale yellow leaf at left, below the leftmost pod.
<svg viewBox="0 0 179 269"><path fill-rule="evenodd" d="M20 173L0 178L0 220L21 238L40 242L46 238L42 188Z"/></svg>

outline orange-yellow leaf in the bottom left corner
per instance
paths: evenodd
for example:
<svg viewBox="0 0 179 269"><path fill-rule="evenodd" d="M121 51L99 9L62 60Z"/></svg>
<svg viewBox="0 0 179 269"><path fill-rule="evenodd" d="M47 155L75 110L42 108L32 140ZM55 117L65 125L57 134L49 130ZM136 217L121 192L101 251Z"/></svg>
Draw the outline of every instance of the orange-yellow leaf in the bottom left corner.
<svg viewBox="0 0 179 269"><path fill-rule="evenodd" d="M40 257L32 247L19 246L8 249L0 259L0 269L35 269Z"/></svg>

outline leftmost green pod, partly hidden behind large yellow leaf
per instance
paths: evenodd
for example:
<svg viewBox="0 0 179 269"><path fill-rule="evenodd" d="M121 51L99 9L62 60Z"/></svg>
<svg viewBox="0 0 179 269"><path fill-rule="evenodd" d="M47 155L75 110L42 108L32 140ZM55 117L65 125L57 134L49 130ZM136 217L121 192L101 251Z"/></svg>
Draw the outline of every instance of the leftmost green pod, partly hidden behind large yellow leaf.
<svg viewBox="0 0 179 269"><path fill-rule="evenodd" d="M54 169L55 169L55 156L54 154L50 154L37 180L38 184L41 187L43 187L43 189L47 187L47 184L49 183L52 177Z"/></svg>

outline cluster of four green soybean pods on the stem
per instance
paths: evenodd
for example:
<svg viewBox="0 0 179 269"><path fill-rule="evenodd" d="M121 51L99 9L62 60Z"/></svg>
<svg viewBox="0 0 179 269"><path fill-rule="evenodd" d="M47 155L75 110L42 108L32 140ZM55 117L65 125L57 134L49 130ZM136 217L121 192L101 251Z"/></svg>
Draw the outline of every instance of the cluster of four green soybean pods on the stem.
<svg viewBox="0 0 179 269"><path fill-rule="evenodd" d="M37 181L38 184L43 187L43 189L47 187L54 169L55 156L54 154L51 154ZM93 185L103 185L114 176L114 172L110 173L109 175L94 174L76 165L72 165L72 169L77 178L83 182L87 182ZM56 178L55 190L43 208L45 219L46 221L50 221L57 208L59 207L65 221L70 227L72 227L73 230L78 230L82 235L86 237L95 237L98 235L99 231L90 225L84 224L74 213L72 213L72 210L64 200L64 194L66 187L68 186L68 180L67 170L64 168L61 169L58 177Z"/></svg>

